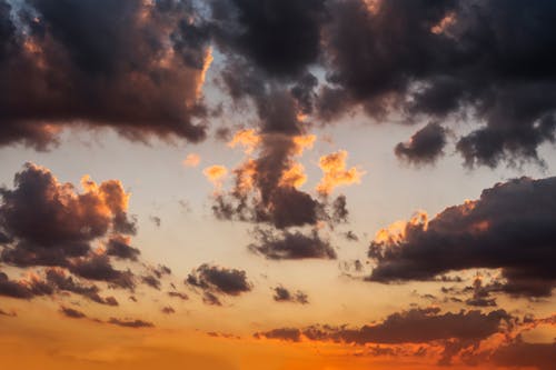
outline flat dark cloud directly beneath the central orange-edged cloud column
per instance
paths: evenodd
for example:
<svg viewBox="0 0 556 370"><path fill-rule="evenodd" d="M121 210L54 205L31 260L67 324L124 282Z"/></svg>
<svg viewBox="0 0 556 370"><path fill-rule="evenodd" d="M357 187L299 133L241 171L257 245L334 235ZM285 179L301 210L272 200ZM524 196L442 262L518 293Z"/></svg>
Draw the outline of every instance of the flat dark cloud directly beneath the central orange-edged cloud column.
<svg viewBox="0 0 556 370"><path fill-rule="evenodd" d="M276 233L258 229L256 237L258 242L250 244L249 250L271 260L336 259L335 249L317 231L306 236L300 231Z"/></svg>

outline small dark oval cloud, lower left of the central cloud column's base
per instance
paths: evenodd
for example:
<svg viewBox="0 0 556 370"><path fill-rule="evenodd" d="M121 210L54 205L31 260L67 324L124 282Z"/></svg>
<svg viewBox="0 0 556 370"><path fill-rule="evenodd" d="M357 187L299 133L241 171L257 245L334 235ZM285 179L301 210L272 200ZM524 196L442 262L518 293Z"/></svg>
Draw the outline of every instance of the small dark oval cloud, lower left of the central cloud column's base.
<svg viewBox="0 0 556 370"><path fill-rule="evenodd" d="M252 289L252 284L247 280L245 271L207 263L191 271L185 282L209 293L228 296L239 296Z"/></svg>

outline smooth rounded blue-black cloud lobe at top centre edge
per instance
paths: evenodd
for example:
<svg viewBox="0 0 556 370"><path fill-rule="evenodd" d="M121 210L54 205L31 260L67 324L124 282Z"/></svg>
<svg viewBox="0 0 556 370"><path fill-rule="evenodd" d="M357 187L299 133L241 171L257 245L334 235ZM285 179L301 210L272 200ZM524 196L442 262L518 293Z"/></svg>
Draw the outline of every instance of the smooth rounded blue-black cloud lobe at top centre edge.
<svg viewBox="0 0 556 370"><path fill-rule="evenodd" d="M269 76L291 77L315 63L326 0L215 0L212 17L222 27L217 41Z"/></svg>

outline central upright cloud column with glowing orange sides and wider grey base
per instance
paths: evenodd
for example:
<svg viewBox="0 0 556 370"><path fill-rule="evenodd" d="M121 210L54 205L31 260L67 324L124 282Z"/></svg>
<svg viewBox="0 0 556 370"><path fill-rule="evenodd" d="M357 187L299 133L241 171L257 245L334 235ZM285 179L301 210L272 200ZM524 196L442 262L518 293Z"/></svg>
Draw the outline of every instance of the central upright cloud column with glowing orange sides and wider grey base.
<svg viewBox="0 0 556 370"><path fill-rule="evenodd" d="M284 130L278 127L281 121L267 123ZM298 134L296 124L291 134L255 130L236 133L229 144L241 146L247 159L234 170L234 188L216 194L212 210L217 218L269 223L279 229L345 220L345 197L330 204L299 189L307 177L296 158L312 147L316 137Z"/></svg>

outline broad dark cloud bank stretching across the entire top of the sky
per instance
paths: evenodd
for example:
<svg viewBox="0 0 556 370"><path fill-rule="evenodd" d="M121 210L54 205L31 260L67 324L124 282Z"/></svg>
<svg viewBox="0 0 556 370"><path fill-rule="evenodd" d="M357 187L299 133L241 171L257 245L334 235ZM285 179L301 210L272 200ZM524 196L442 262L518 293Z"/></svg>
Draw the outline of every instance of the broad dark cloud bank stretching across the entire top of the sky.
<svg viewBox="0 0 556 370"><path fill-rule="evenodd" d="M83 123L202 140L216 48L229 98L249 98L265 133L299 134L288 104L325 121L363 108L473 122L456 139L468 166L540 161L555 140L555 20L549 0L2 0L1 143L44 149ZM396 152L423 163L444 144L429 126Z"/></svg>

